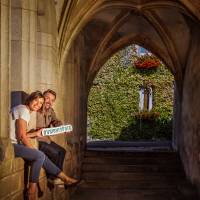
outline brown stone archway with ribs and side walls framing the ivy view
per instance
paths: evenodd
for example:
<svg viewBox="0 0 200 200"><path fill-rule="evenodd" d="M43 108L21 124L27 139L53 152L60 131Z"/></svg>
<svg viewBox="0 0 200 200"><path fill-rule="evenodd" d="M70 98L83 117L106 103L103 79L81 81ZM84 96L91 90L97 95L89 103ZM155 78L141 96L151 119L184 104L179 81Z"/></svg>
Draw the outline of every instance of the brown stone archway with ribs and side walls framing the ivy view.
<svg viewBox="0 0 200 200"><path fill-rule="evenodd" d="M70 5L76 13L76 5ZM199 44L197 35L200 32L199 12L195 6L195 3L189 1L87 1L80 5L79 14L68 15L67 24L66 21L60 23L59 53L60 73L68 68L68 63L74 70L71 75L76 76L74 81L78 85L73 91L79 91L76 97L81 101L77 100L73 106L78 108L77 112L83 117L86 116L87 95L93 79L112 54L130 43L137 43L160 57L174 74L176 81L177 146L187 175L193 182L200 182L197 161L198 127L194 125L199 114L195 112L195 117L189 114L192 110L195 111L192 102L195 101L196 106L198 105L198 95L190 91L194 75L194 85L198 87L200 84L197 81L199 72L195 71L199 66L196 55ZM74 17L73 20L71 17ZM70 59L71 53L74 60ZM194 97L188 98L188 94L190 97L196 96L195 100ZM183 119L193 122L185 123ZM79 137L83 138L84 147L86 120L76 118L76 124L81 130L82 135Z"/></svg>

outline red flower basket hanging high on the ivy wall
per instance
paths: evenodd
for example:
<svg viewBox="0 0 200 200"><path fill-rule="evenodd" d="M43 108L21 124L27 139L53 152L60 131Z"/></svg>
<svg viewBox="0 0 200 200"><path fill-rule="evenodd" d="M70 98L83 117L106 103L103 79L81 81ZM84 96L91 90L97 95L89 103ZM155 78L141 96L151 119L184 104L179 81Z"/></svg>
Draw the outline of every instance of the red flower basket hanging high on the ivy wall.
<svg viewBox="0 0 200 200"><path fill-rule="evenodd" d="M138 57L134 63L134 67L137 69L156 69L161 65L158 58L155 56L141 56Z"/></svg>

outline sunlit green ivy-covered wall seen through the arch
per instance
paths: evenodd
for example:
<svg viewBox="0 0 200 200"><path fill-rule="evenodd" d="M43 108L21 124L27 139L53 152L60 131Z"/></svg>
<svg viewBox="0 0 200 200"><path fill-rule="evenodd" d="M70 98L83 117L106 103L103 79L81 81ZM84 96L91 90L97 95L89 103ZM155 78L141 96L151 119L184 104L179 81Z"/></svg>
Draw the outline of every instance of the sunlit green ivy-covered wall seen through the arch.
<svg viewBox="0 0 200 200"><path fill-rule="evenodd" d="M134 55L126 57L127 49L113 55L93 82L88 98L88 136L122 141L171 139L172 74L163 65L136 69ZM153 88L153 109L141 113L139 90L144 84Z"/></svg>

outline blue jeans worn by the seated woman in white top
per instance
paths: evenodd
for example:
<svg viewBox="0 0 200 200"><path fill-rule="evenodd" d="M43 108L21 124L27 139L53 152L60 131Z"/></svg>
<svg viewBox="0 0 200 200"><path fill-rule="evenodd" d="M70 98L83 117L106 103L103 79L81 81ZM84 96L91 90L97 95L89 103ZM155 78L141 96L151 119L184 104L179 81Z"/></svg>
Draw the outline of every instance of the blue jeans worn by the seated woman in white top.
<svg viewBox="0 0 200 200"><path fill-rule="evenodd" d="M41 151L24 146L23 144L13 144L15 157L21 157L25 161L31 162L29 181L37 183L39 181L40 170L43 167L46 173L58 176L61 170Z"/></svg>

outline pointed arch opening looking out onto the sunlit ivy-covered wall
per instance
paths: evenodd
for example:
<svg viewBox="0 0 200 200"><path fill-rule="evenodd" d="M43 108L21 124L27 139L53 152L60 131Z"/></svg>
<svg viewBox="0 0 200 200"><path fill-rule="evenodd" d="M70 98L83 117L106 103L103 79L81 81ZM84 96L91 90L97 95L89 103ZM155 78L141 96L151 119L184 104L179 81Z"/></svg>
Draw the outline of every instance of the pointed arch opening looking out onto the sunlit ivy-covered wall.
<svg viewBox="0 0 200 200"><path fill-rule="evenodd" d="M171 150L174 77L150 51L130 45L98 72L88 97L88 147Z"/></svg>

